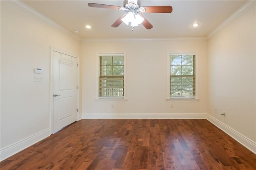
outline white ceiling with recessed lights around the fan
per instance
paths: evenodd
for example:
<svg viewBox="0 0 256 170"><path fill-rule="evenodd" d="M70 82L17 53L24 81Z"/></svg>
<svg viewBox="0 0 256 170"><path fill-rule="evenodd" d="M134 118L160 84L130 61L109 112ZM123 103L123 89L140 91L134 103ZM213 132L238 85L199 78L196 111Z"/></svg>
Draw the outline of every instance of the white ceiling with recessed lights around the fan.
<svg viewBox="0 0 256 170"><path fill-rule="evenodd" d="M70 32L79 30L80 38L181 38L206 37L224 22L246 0L141 0L141 6L166 6L173 8L170 14L144 13L153 25L134 27L122 23L117 28L111 25L125 12L88 7L88 3L123 6L122 0L22 0L44 16L60 24ZM194 22L200 23L192 28ZM86 29L85 26L92 26Z"/></svg>

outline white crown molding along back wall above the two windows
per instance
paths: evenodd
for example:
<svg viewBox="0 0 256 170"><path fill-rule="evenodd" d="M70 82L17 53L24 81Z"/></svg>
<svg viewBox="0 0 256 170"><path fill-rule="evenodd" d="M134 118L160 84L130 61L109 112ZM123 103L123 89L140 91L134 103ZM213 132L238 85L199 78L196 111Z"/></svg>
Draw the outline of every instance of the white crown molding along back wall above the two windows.
<svg viewBox="0 0 256 170"><path fill-rule="evenodd" d="M82 42L173 42L173 41L206 41L206 37L184 37L184 38L84 38Z"/></svg>

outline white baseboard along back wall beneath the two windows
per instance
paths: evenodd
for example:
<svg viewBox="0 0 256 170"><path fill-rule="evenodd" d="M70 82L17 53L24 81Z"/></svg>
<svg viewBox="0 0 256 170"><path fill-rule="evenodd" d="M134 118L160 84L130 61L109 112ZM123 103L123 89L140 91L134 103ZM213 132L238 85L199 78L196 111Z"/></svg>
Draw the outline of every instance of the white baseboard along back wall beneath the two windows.
<svg viewBox="0 0 256 170"><path fill-rule="evenodd" d="M82 119L207 119L206 113L82 113Z"/></svg>

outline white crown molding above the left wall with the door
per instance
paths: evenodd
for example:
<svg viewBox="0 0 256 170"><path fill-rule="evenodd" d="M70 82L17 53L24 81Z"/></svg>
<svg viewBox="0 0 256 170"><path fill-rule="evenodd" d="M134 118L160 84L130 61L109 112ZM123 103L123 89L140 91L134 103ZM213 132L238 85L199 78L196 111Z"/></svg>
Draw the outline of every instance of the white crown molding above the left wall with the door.
<svg viewBox="0 0 256 170"><path fill-rule="evenodd" d="M78 41L82 41L82 38L80 38L79 36L76 36L75 34L73 34L72 32L68 31L66 28L60 26L58 23L54 22L53 20L51 20L50 18L44 16L43 14L41 14L40 12L34 10L33 8L31 8L30 6L24 4L23 2L21 2L20 0L6 0L7 2L9 2L10 4L20 8L21 10L27 12L28 14L38 18L39 20L45 22L46 24L49 24L50 26L56 28L57 30L60 30L61 32L64 32L65 34L67 34L68 36L71 36L72 38L75 38Z"/></svg>

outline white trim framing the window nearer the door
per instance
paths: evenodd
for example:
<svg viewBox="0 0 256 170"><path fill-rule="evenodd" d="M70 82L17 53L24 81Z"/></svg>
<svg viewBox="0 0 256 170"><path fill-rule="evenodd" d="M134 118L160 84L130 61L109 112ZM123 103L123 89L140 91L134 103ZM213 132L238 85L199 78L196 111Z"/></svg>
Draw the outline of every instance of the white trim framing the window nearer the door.
<svg viewBox="0 0 256 170"><path fill-rule="evenodd" d="M124 96L123 97L99 97L99 56L112 56L112 55L124 55ZM110 101L110 102L120 102L127 100L127 86L126 86L126 52L98 52L97 55L97 62L96 62L96 101Z"/></svg>

